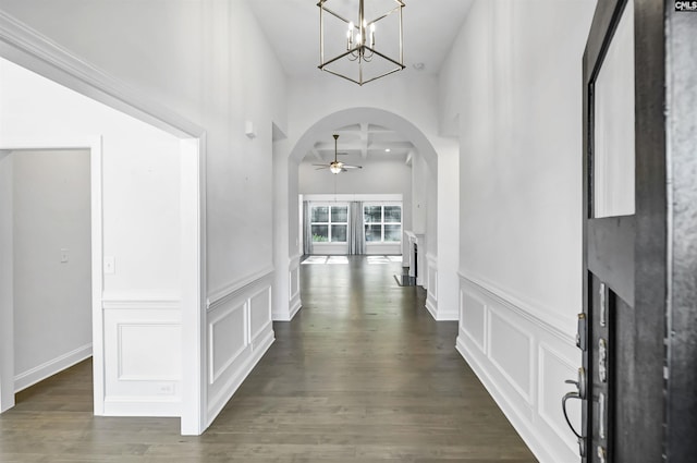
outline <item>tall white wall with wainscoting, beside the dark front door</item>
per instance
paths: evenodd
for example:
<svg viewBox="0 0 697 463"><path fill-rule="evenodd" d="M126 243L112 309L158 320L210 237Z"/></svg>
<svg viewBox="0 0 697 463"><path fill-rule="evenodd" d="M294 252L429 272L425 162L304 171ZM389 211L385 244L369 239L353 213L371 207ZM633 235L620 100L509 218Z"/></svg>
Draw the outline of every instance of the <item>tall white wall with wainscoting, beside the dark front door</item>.
<svg viewBox="0 0 697 463"><path fill-rule="evenodd" d="M580 365L582 56L594 9L476 1L440 81L441 120L460 119L457 348L550 463L577 461L560 400Z"/></svg>

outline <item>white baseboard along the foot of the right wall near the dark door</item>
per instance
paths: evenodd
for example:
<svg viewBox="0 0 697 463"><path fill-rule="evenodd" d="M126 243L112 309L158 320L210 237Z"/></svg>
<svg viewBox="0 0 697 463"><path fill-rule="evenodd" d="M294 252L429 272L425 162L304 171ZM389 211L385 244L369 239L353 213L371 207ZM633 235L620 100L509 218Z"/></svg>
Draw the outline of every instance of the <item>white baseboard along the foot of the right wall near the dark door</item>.
<svg viewBox="0 0 697 463"><path fill-rule="evenodd" d="M538 439L536 432L530 429L526 425L525 418L518 415L510 405L509 400L506 400L504 392L499 388L497 382L487 374L486 368L480 365L475 355L472 355L467 350L467 346L464 344L461 337L457 337L457 341L455 343L455 349L460 352L460 355L463 356L465 362L469 365L472 370L477 375L481 383L487 388L487 391L493 399L493 401L499 405L499 409L503 412L505 417L509 419L511 425L515 428L515 430L521 435L521 438L525 441L525 444L530 448L535 456L541 463L562 463L555 460L548 451L545 442ZM571 463L571 462L567 462Z"/></svg>

